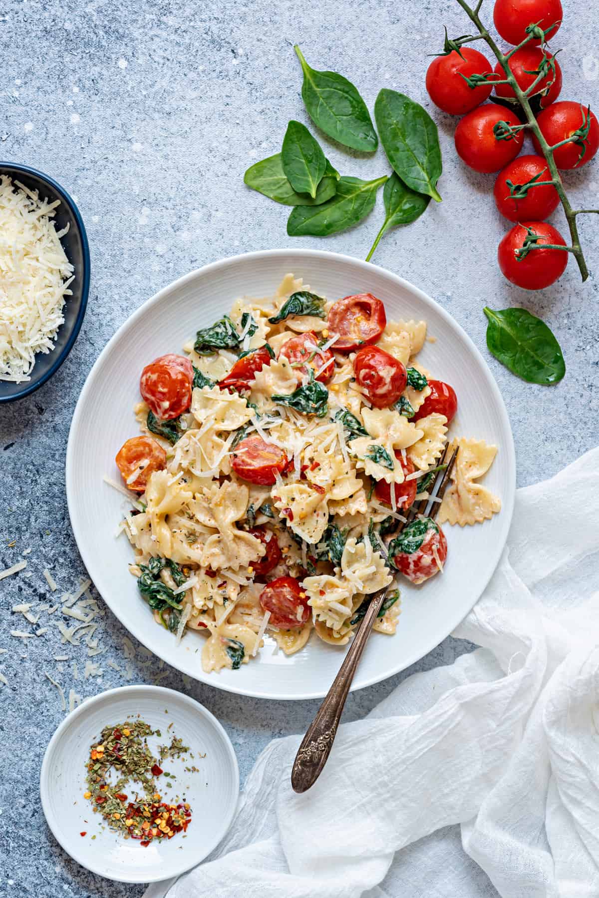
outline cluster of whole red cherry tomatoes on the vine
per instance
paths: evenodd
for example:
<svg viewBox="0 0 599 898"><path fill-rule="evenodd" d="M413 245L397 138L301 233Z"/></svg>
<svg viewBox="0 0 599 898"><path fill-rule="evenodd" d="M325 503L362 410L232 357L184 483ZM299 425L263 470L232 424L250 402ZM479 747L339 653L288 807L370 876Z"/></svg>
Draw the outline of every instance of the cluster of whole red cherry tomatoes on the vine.
<svg viewBox="0 0 599 898"><path fill-rule="evenodd" d="M496 0L493 21L501 37L517 46L529 37L526 29L538 25L545 39L554 37L562 19L560 0ZM531 95L538 109L537 122L559 169L586 165L599 149L599 123L583 104L557 101L561 91L559 62L538 37L512 51L507 65L521 90L535 84ZM476 75L486 75L487 81ZM469 81L470 79L470 81ZM542 146L533 136L535 155L518 155L524 127L515 112L486 102L491 91L500 101L515 101L503 67L494 69L479 50L460 47L436 57L428 66L427 92L439 109L463 115L455 129L455 149L475 172L499 172L494 197L499 213L517 223L499 243L499 268L517 286L538 290L553 284L568 264L560 233L545 219L559 205ZM481 105L482 104L482 105ZM515 107L516 108L516 107ZM556 146L559 145L559 146ZM516 158L517 157L517 158ZM549 182L549 183L547 183ZM539 249L551 244L548 249Z"/></svg>

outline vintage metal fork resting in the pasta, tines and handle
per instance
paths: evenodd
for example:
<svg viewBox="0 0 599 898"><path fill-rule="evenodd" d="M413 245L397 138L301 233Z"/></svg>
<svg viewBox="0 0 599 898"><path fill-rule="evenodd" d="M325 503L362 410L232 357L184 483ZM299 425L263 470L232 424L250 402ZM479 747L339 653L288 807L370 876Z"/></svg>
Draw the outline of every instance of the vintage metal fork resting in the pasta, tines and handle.
<svg viewBox="0 0 599 898"><path fill-rule="evenodd" d="M449 451L449 444L445 445L445 451L441 457L440 464L445 463L445 457ZM439 471L435 485L430 491L428 498L422 499L418 503L418 507L412 506L410 514L407 516L405 524L401 524L398 533L410 524L417 515L424 515L428 511L428 516L435 520L440 502L435 501L442 499L445 495L445 489L449 484L451 472L454 469L455 458L458 450L454 449L452 456L447 462L445 470ZM434 507L433 507L434 506ZM381 547L383 550L383 547ZM378 593L374 593L371 603L368 605L364 619L357 628L356 636L349 647L348 654L343 660L343 664L339 667L339 674L335 677L330 690L327 692L321 707L316 712L312 724L308 727L304 740L295 755L294 766L291 770L291 785L295 792L306 792L313 786L322 773L322 769L326 764L330 749L335 741L337 729L346 699L348 698L349 687L356 674L357 665L359 664L362 653L366 647L366 642L370 636L372 626L381 606L385 600L385 596L389 590L388 586L380 589Z"/></svg>

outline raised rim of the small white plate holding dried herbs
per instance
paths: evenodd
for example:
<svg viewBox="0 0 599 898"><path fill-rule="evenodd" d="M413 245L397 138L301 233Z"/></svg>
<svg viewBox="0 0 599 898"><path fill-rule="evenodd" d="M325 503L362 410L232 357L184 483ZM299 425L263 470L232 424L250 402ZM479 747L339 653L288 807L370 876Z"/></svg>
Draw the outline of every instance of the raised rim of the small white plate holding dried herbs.
<svg viewBox="0 0 599 898"><path fill-rule="evenodd" d="M174 694L177 699L182 700L185 703L188 703L191 706L191 710L196 714L200 714L203 718L205 718L209 724L211 724L216 732L221 735L223 742L225 744L227 750L227 756L231 765L231 771L233 773L233 787L234 787L234 800L231 802L231 808L229 809L228 814L225 816L225 825L222 829L222 832L218 835L218 839L213 841L212 844L208 846L208 850L203 857L198 858L194 855L189 866L182 867L181 870L178 870L177 873L173 873L171 876L167 878L172 878L172 876L181 876L183 873L186 873L188 870L193 867L197 867L204 858L207 858L208 854L211 851L216 849L216 846L225 838L227 832L231 827L231 823L233 823L233 816L235 814L235 810L237 808L239 793L240 793L240 779L239 779L239 763L237 762L237 755L235 754L235 750L233 748L233 743L231 738L227 734L225 727L220 723L220 721L214 716L214 714L209 711L205 705L202 705L201 702L192 698L190 695L187 695L185 692L181 692L176 689L169 689L166 686L158 686L158 685L150 685L148 683L134 683L129 686L117 686L114 689L108 689L103 692L99 692L97 695L92 696L89 699L84 700L77 708L73 709L69 714L66 715L66 718L63 718L58 724L56 730L52 734L48 745L46 746L46 751L44 752L44 758L41 762L41 770L40 770L40 799L41 799L41 807L44 812L44 817L46 818L46 823L48 823L48 827L52 832L52 835L60 845L60 847L66 851L70 858L73 858L77 864L81 867L85 867L86 870L90 870L92 873L97 876L102 876L104 879L110 879L112 882L117 883L156 883L161 882L164 879L164 876L143 876L139 878L137 876L109 876L105 871L102 871L100 867L95 865L91 865L87 863L84 859L79 856L77 850L71 850L69 846L66 844L66 841L63 841L61 835L59 834L58 828L55 826L55 820L53 815L49 812L49 774L48 767L50 762L50 756L54 749L56 748L57 743L66 733L66 730L69 729L70 726L73 726L73 723L76 718L81 717L85 714L94 704L98 704L101 700L105 700L116 693L122 694L123 692L132 693L134 696L136 693L145 692L146 694L154 693L157 699L163 697L164 700L167 700L167 696ZM162 704L162 701L160 702ZM76 842L75 842L76 845Z"/></svg>

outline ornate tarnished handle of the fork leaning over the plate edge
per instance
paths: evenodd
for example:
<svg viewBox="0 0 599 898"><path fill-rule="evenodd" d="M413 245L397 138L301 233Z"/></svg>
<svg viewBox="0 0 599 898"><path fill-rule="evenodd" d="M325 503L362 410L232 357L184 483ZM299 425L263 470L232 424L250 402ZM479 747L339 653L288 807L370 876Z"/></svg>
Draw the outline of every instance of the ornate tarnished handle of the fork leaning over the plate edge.
<svg viewBox="0 0 599 898"><path fill-rule="evenodd" d="M308 727L304 740L295 755L294 766L291 770L291 785L294 792L306 792L313 786L322 773L322 769L329 758L337 734L339 720L343 713L345 701L348 698L349 687L354 679L357 665L362 652L372 631L372 625L376 619L388 587L374 594L372 602L364 616L364 620L357 629L356 637L349 647L343 664L339 667L339 674L335 677L327 692L321 707L316 712L312 724Z"/></svg>

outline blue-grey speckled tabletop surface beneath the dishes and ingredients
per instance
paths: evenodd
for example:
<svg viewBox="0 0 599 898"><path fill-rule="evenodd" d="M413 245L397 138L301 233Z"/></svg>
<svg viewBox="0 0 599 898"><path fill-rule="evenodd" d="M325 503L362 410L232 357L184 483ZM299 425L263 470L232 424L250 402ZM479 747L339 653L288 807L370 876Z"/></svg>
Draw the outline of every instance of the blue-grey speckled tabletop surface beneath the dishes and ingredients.
<svg viewBox="0 0 599 898"><path fill-rule="evenodd" d="M566 5L555 42L564 48L562 97L596 106L593 13L582 0ZM292 240L285 232L286 209L242 184L251 162L277 152L287 120L306 120L295 41L313 66L335 68L355 81L371 108L382 86L408 92L430 108L424 54L439 45L442 22L454 34L467 26L451 0L322 0L300 6L265 0L75 0L66 6L8 0L0 12L0 154L48 172L75 196L92 248L89 309L66 364L28 400L0 407L0 568L31 547L31 576L0 585L0 646L8 649L0 670L10 683L0 693L0 894L137 896L141 886L88 874L48 832L39 802L40 762L63 715L42 672L66 682L66 671L57 671L53 660L64 647L56 629L26 644L8 634L15 627L31 629L11 614L14 603L48 602L45 565L61 591L73 589L84 575L67 520L64 482L75 401L112 333L147 297L190 269L276 246L366 255L379 228L382 197L354 231L326 242ZM486 16L490 20L489 9ZM570 262L559 284L542 294L507 285L495 263L506 225L490 197L492 177L459 163L454 119L433 114L445 156L439 185L444 202L431 205L415 225L386 235L374 261L434 296L485 355L483 304L523 304L559 335L568 374L556 388L526 386L489 359L514 428L518 483L525 485L559 471L597 442L596 278L582 286ZM353 159L326 138L322 144L341 172L375 177L387 171L381 149L374 158ZM565 180L586 207L597 205L596 164ZM554 218L559 223L559 213ZM587 218L581 225L587 259L596 269L597 223ZM556 414L564 409L570 427L558 429ZM76 683L84 696L126 682L106 667L109 658L122 662L125 632L110 612L101 630L101 645L108 649L99 658L104 673L100 680ZM467 648L446 639L405 674L352 695L347 718L364 716L413 670L451 663ZM83 667L84 648L68 654ZM131 682L152 682L166 672L163 685L206 704L233 739L242 778L270 738L303 730L316 709L315 702L269 703L186 686L177 672L159 671L146 660L138 651Z"/></svg>

